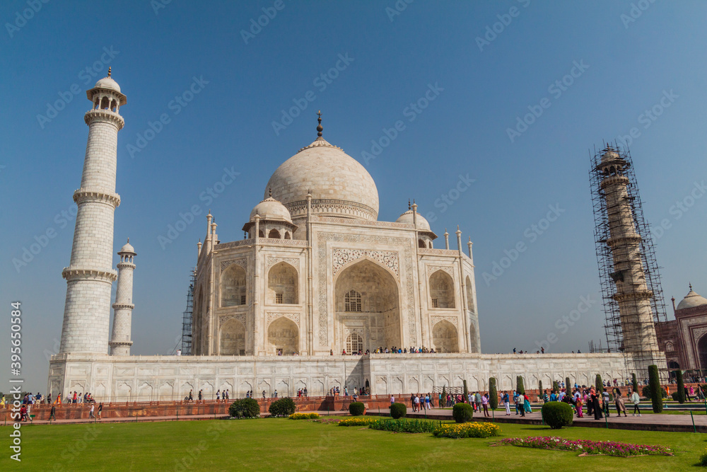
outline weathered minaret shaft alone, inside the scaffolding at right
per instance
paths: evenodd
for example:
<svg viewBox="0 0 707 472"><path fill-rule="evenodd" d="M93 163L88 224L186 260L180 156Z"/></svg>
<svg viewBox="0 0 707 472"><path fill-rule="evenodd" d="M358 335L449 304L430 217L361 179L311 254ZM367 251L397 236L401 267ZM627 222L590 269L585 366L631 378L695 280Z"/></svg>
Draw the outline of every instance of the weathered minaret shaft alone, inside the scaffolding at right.
<svg viewBox="0 0 707 472"><path fill-rule="evenodd" d="M614 272L612 280L616 284L613 298L619 305L619 318L624 352L633 353L636 360L662 363L658 339L655 336L653 292L645 282L645 271L641 259L641 235L636 231L636 219L633 215L631 197L626 175L629 163L619 156L611 146L602 151L602 159L596 171L602 175L600 188L606 198L609 223L609 238L606 241L612 253ZM639 367L642 369L643 367Z"/></svg>

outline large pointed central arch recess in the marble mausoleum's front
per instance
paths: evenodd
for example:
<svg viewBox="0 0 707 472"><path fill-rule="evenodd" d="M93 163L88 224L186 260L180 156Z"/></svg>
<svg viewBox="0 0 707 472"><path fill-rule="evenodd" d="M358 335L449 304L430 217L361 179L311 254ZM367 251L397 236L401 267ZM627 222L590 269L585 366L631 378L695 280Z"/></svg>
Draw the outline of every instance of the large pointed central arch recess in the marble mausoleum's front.
<svg viewBox="0 0 707 472"><path fill-rule="evenodd" d="M346 346L351 333L363 335L364 351L402 347L399 287L385 267L370 259L351 264L339 272L334 292L337 350Z"/></svg>

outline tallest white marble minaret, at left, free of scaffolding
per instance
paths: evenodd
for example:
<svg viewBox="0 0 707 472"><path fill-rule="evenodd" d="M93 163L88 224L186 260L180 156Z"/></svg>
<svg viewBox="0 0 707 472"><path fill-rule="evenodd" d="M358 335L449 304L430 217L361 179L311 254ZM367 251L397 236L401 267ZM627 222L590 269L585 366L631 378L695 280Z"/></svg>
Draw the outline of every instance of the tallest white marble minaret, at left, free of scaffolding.
<svg viewBox="0 0 707 472"><path fill-rule="evenodd" d="M113 213L120 204L115 172L118 132L124 125L118 110L127 100L110 77L110 67L86 96L93 106L83 117L88 144L81 187L74 192L78 213L71 262L62 272L67 287L59 353L105 354L110 290L117 277L112 269Z"/></svg>

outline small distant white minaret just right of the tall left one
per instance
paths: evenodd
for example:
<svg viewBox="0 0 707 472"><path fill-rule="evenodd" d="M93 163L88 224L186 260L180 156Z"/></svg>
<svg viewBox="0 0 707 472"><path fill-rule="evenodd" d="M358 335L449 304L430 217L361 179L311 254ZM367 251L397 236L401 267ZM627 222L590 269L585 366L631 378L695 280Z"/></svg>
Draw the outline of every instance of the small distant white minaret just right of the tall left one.
<svg viewBox="0 0 707 472"><path fill-rule="evenodd" d="M115 303L113 304L113 332L110 336L110 355L129 356L130 346L130 325L132 321L132 310L135 305L132 302L132 277L135 270L133 258L137 255L135 249L128 242L118 251L120 262L118 263L118 288L115 291Z"/></svg>

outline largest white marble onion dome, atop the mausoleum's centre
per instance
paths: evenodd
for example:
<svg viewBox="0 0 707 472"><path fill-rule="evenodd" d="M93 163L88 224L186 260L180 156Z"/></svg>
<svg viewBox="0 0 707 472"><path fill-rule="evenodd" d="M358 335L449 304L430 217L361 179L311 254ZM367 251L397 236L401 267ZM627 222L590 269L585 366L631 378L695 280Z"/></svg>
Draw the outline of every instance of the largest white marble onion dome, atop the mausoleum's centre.
<svg viewBox="0 0 707 472"><path fill-rule="evenodd" d="M346 218L378 219L378 189L366 168L341 148L317 138L282 163L265 187L265 196L282 202L293 217L306 211Z"/></svg>

